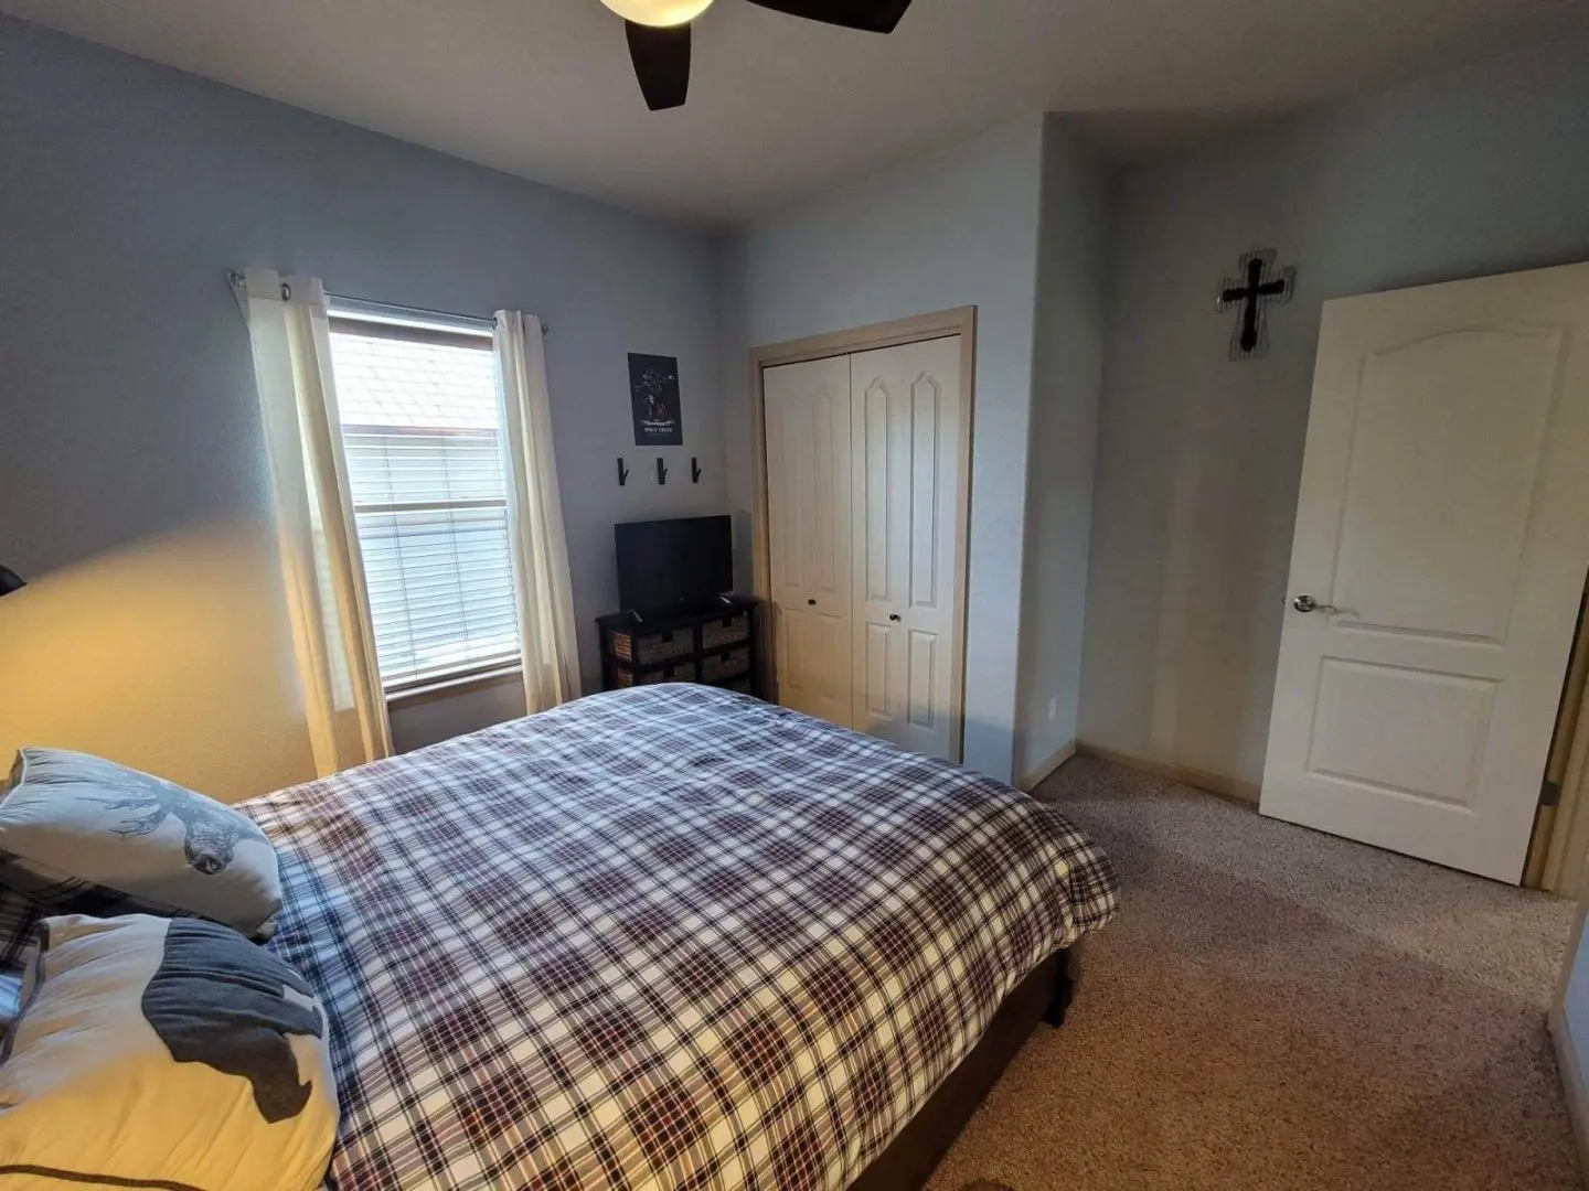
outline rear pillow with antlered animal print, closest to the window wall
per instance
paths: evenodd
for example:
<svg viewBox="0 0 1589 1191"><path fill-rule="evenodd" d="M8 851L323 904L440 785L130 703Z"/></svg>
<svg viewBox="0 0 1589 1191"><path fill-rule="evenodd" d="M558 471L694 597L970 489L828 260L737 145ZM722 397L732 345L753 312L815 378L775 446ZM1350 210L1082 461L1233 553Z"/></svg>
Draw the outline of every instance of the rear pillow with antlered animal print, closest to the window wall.
<svg viewBox="0 0 1589 1191"><path fill-rule="evenodd" d="M92 915L195 915L269 939L276 853L215 799L86 753L24 748L0 799L0 885Z"/></svg>

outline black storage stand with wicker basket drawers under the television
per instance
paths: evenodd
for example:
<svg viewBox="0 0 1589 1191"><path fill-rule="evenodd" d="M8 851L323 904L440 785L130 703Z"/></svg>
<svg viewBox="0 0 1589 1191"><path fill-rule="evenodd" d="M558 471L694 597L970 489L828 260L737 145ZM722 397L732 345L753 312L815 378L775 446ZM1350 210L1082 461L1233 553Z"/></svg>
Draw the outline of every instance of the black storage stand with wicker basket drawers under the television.
<svg viewBox="0 0 1589 1191"><path fill-rule="evenodd" d="M758 616L744 596L597 616L602 688L706 683L760 699Z"/></svg>

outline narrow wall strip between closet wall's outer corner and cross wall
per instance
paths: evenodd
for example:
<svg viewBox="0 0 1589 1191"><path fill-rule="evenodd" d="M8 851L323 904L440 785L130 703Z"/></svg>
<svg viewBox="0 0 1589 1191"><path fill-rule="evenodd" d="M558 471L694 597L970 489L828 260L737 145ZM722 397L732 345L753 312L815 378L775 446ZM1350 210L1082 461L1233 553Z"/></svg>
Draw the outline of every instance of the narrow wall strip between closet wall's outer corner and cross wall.
<svg viewBox="0 0 1589 1191"><path fill-rule="evenodd" d="M1050 114L1042 137L1017 778L1046 769L1076 742L1108 249L1108 172L1066 121Z"/></svg>

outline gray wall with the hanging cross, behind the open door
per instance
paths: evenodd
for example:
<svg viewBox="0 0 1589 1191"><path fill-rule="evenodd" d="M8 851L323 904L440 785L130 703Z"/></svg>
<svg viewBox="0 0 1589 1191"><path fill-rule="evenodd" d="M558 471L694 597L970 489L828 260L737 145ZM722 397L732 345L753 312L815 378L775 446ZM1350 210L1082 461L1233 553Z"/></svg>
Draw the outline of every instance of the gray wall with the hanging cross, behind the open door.
<svg viewBox="0 0 1589 1191"><path fill-rule="evenodd" d="M1117 200L1081 738L1249 791L1263 772L1325 299L1589 257L1589 43L1224 138ZM1222 276L1300 270L1225 359Z"/></svg>

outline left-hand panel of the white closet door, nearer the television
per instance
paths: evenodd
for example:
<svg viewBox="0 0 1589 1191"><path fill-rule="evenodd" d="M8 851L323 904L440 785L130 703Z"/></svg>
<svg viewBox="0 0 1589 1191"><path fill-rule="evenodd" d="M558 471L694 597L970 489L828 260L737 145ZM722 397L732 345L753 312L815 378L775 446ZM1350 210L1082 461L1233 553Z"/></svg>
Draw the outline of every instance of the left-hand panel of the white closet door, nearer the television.
<svg viewBox="0 0 1589 1191"><path fill-rule="evenodd" d="M850 362L763 370L777 700L850 727Z"/></svg>

